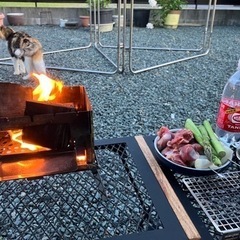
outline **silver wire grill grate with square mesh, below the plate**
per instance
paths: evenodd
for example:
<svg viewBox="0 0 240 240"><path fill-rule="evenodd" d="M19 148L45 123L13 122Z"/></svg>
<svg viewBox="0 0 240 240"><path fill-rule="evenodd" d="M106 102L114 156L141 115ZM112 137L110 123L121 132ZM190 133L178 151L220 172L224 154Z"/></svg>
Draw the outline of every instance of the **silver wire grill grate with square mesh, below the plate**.
<svg viewBox="0 0 240 240"><path fill-rule="evenodd" d="M221 235L239 239L240 172L223 176L184 178L183 182L215 229Z"/></svg>

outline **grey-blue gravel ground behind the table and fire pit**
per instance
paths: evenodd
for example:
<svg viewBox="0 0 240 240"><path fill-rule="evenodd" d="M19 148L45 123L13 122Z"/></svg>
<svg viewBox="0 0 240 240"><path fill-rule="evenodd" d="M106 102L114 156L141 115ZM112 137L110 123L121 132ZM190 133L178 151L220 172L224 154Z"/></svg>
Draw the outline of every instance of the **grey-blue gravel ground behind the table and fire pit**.
<svg viewBox="0 0 240 240"><path fill-rule="evenodd" d="M44 51L77 48L90 43L89 29L66 29L59 26L19 26L37 37ZM204 27L136 28L134 47L199 48ZM126 31L128 49L129 29ZM122 39L122 35L120 36ZM116 63L117 30L102 33L102 51ZM186 118L200 123L208 118L214 124L218 104L227 79L236 70L240 45L240 28L215 26L207 56L133 74L129 70L129 51L125 52L123 73L99 74L86 71L63 71L48 68L49 75L62 79L65 85L84 85L94 111L95 138L152 135L161 125L170 128L183 126ZM106 46L113 46L107 48ZM5 42L0 42L1 56L8 57ZM133 69L141 69L191 56L189 51L132 51ZM79 68L114 72L115 67L94 46L82 50L45 55L48 67ZM1 82L33 84L13 75L12 66L1 65Z"/></svg>

